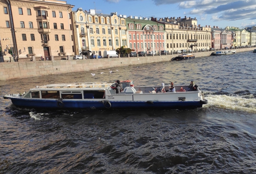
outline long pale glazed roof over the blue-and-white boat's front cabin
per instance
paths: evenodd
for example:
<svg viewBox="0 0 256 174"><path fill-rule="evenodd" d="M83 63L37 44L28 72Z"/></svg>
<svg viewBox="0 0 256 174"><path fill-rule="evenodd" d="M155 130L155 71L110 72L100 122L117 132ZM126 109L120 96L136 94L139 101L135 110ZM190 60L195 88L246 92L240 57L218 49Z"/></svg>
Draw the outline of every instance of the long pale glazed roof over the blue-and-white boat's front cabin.
<svg viewBox="0 0 256 174"><path fill-rule="evenodd" d="M102 89L109 89L111 85L115 84L116 82L95 82L95 83L56 83L56 84L46 84L43 86L36 86L30 90L38 90L38 89L45 89L45 88L52 88L52 89L76 89L76 88L102 88Z"/></svg>

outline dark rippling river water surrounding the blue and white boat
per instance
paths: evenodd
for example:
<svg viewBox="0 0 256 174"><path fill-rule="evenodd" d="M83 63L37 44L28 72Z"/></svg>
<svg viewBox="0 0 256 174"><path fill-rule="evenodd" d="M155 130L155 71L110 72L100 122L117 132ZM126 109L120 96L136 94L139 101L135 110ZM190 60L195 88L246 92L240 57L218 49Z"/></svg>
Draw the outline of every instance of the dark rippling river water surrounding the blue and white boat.
<svg viewBox="0 0 256 174"><path fill-rule="evenodd" d="M0 81L0 173L255 173L255 55ZM194 80L208 104L194 110L47 111L3 99L36 85L117 79L135 85Z"/></svg>

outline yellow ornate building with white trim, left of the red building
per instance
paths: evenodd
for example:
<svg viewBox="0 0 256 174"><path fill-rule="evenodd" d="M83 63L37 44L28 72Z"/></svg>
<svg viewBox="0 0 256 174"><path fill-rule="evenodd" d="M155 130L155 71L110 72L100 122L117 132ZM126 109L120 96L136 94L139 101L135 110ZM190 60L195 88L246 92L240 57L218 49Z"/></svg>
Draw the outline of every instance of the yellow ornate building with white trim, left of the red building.
<svg viewBox="0 0 256 174"><path fill-rule="evenodd" d="M103 51L116 50L122 46L122 38L126 39L125 18L116 12L108 14L89 12L78 8L73 11L75 28L75 53L88 53L103 56Z"/></svg>

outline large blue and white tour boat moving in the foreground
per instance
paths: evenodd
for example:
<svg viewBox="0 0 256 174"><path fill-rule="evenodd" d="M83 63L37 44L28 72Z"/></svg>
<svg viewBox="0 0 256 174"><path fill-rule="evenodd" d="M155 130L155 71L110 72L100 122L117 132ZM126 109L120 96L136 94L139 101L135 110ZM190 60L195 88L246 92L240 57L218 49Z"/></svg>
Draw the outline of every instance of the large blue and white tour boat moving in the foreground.
<svg viewBox="0 0 256 174"><path fill-rule="evenodd" d="M53 109L178 109L197 108L207 104L204 92L187 91L185 85L176 92L155 92L161 86L138 86L130 80L121 81L123 90L116 93L116 82L61 83L36 86L23 94L8 94L13 105ZM168 90L166 86L164 90ZM152 92L151 92L152 91Z"/></svg>

